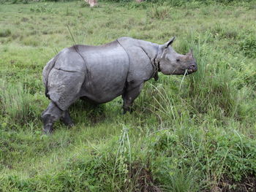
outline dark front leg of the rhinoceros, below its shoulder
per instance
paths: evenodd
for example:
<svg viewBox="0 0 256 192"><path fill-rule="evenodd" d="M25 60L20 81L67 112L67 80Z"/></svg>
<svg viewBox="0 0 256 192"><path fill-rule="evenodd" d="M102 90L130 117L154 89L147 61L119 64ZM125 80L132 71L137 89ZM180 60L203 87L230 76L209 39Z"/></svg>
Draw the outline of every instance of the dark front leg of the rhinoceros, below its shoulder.
<svg viewBox="0 0 256 192"><path fill-rule="evenodd" d="M126 91L124 91L124 94L122 95L122 98L124 101L124 105L123 105L124 114L126 112L132 112L132 103L140 94L140 91L143 88L143 83L141 83L135 88L131 88L131 87L132 85L128 84Z"/></svg>

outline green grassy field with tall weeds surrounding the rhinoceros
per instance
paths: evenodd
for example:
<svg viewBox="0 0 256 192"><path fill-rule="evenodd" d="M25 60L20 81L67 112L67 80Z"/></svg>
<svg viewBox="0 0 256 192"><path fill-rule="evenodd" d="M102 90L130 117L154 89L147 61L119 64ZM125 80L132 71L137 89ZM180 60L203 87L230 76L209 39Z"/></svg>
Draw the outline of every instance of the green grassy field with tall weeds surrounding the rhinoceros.
<svg viewBox="0 0 256 192"><path fill-rule="evenodd" d="M255 1L0 4L0 191L256 191L255 20ZM174 35L195 74L149 80L132 114L77 101L74 127L42 134L56 53Z"/></svg>

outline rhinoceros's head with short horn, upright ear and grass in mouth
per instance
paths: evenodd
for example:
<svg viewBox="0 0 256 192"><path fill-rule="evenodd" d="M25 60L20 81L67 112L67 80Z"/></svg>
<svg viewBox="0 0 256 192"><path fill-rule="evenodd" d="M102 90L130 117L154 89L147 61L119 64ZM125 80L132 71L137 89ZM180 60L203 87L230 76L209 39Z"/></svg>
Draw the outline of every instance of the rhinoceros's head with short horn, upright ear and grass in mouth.
<svg viewBox="0 0 256 192"><path fill-rule="evenodd" d="M159 71L163 74L191 74L197 71L197 64L193 57L192 50L186 55L181 55L173 50L170 45L175 37L164 45L159 46Z"/></svg>

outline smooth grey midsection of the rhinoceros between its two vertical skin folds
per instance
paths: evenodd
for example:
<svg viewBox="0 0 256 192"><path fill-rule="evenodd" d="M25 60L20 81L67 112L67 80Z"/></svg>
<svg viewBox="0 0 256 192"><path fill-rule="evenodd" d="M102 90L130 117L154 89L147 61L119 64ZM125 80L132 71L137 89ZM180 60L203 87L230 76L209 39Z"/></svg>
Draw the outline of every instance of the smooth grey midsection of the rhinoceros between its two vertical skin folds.
<svg viewBox="0 0 256 192"><path fill-rule="evenodd" d="M80 96L105 103L124 91L129 70L129 57L118 43L104 47L86 47L81 51L86 61L86 78Z"/></svg>

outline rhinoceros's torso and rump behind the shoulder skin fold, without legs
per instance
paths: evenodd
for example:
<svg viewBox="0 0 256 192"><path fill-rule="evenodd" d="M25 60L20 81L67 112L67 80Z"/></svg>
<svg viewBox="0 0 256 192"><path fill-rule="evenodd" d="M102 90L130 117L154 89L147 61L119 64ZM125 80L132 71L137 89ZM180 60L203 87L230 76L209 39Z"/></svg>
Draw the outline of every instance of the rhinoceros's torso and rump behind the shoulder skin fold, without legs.
<svg viewBox="0 0 256 192"><path fill-rule="evenodd" d="M45 93L61 110L81 97L105 103L123 93L128 69L129 57L118 42L75 45L45 66Z"/></svg>

